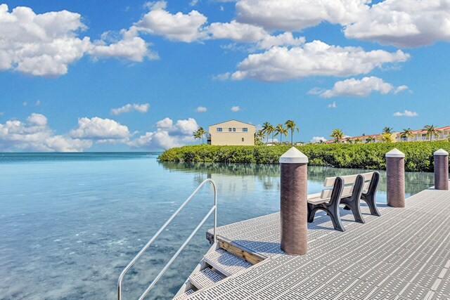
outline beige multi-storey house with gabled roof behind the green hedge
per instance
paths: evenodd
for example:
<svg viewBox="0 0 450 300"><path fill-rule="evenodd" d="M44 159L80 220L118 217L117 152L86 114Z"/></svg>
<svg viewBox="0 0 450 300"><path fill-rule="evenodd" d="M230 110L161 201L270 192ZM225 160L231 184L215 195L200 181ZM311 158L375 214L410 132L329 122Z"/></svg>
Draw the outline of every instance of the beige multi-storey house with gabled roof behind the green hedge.
<svg viewBox="0 0 450 300"><path fill-rule="evenodd" d="M230 120L210 126L209 145L255 145L255 125Z"/></svg>

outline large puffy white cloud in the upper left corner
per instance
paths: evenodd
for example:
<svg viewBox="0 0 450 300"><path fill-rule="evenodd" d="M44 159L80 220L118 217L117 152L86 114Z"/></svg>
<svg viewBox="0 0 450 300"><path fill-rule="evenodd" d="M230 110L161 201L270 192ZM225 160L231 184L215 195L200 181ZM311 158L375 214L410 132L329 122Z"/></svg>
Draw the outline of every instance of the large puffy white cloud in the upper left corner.
<svg viewBox="0 0 450 300"><path fill-rule="evenodd" d="M89 37L81 15L69 11L36 14L18 6L8 12L0 5L0 70L17 70L36 76L58 76L89 50Z"/></svg>

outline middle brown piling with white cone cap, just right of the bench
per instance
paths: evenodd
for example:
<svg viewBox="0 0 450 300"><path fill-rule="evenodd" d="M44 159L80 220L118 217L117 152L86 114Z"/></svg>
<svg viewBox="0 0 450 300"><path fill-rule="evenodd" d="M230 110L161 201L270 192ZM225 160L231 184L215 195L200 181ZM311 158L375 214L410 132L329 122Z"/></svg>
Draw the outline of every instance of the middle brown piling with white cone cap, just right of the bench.
<svg viewBox="0 0 450 300"><path fill-rule="evenodd" d="M386 153L387 205L405 207L405 155L394 148Z"/></svg>

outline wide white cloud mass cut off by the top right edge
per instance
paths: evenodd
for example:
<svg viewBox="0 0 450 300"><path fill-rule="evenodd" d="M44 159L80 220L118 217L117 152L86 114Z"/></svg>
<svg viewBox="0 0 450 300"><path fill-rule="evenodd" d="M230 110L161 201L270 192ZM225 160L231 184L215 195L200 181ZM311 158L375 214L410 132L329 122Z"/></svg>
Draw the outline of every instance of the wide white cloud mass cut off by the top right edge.
<svg viewBox="0 0 450 300"><path fill-rule="evenodd" d="M238 0L238 22L265 30L301 31L321 22L342 25L345 37L418 47L450 41L446 0Z"/></svg>

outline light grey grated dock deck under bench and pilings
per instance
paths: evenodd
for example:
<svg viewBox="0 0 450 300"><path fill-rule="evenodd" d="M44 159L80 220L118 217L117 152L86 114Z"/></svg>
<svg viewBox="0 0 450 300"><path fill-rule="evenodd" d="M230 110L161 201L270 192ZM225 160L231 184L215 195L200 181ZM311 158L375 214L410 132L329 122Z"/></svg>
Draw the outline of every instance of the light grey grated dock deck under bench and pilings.
<svg viewBox="0 0 450 300"><path fill-rule="evenodd" d="M222 226L219 237L269 258L188 299L450 300L450 191L380 206L380 217L363 207L365 224L341 210L344 233L319 214L304 256L281 252L278 213Z"/></svg>

